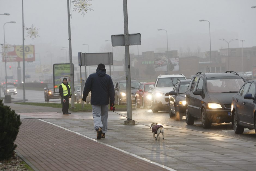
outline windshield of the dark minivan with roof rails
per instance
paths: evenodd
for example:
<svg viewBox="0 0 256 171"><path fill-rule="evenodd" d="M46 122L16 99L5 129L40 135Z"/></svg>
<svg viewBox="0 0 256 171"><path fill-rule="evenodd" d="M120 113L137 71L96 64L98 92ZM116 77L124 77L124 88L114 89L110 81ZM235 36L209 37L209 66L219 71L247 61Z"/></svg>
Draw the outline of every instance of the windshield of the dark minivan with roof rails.
<svg viewBox="0 0 256 171"><path fill-rule="evenodd" d="M212 93L238 92L245 82L242 78L208 78L207 90Z"/></svg>

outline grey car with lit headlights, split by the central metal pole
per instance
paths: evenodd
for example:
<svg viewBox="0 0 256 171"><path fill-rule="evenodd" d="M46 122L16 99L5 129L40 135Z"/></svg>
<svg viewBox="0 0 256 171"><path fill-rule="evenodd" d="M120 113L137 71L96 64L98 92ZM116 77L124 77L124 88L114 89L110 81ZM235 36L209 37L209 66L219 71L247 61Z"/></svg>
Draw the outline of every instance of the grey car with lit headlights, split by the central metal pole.
<svg viewBox="0 0 256 171"><path fill-rule="evenodd" d="M131 80L131 93L132 93L132 104L135 104L135 94L141 83L136 80ZM115 88L115 103L118 105L126 105L126 80L117 81L114 84Z"/></svg>

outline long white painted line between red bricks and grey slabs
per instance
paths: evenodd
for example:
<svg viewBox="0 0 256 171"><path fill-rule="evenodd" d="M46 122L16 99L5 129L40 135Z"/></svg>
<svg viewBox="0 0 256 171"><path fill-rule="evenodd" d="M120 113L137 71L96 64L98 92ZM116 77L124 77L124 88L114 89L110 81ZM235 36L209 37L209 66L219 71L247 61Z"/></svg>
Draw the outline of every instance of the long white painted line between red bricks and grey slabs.
<svg viewBox="0 0 256 171"><path fill-rule="evenodd" d="M53 124L53 123L50 123L50 122L47 122L47 121L44 121L44 120L41 120L41 119L37 119L37 120L46 122L46 123L48 123L48 124L52 124L52 125L54 125L54 126L57 126L57 127L59 127L59 128L62 128L62 129L65 129L65 130L67 130L67 131L69 131L69 132L72 132L72 133L75 133L75 134L77 134L77 135L81 135L81 136L83 136L84 138L88 138L88 139L90 139L90 140L92 140L92 141L95 141L95 142L97 142L97 143L100 143L100 144L106 145L106 146L108 146L108 147L114 148L114 149L116 149L116 150L118 150L118 151L121 151L121 152L123 152L123 153L125 153L125 154L129 154L129 155L131 155L131 156L133 156L133 157L136 157L136 158L139 158L139 159L141 159L141 160L147 161L148 163L155 164L155 165L157 165L157 166L159 166L159 167L162 167L162 168L164 168L164 169L171 170L171 171L176 171L175 169L172 169L172 168L170 168L170 167L164 166L163 164L156 163L156 162L154 162L154 161L148 160L147 158L140 157L140 156L138 156L138 155L136 155L136 154L130 153L130 152L128 152L128 151L124 151L124 150L122 150L122 149L120 149L120 148L116 148L116 147L114 147L114 146L112 146L112 145L109 145L109 144L106 144L106 143L97 141L96 139L93 139L93 138L90 138L90 137L88 137L88 136L86 136L86 135L83 135L83 134L81 134L81 133L78 133L78 132L75 132L75 131L66 129L66 128L62 127L62 126L59 126L59 125L56 125L56 124Z"/></svg>

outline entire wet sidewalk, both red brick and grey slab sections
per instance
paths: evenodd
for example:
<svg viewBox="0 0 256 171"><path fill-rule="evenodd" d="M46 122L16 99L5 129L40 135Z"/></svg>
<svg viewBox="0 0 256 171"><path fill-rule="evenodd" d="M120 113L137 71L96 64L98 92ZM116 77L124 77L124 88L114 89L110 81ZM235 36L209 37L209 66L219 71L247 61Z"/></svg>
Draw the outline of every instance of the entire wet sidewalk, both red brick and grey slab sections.
<svg viewBox="0 0 256 171"><path fill-rule="evenodd" d="M126 126L126 118L112 112L106 138L97 140L90 112L63 115L47 112L49 108L35 112L37 106L30 106L31 113L23 113L27 105L10 106L19 108L22 118L17 151L35 170L234 171L256 167L253 142L167 125L163 125L164 140L156 141L145 126L149 121Z"/></svg>

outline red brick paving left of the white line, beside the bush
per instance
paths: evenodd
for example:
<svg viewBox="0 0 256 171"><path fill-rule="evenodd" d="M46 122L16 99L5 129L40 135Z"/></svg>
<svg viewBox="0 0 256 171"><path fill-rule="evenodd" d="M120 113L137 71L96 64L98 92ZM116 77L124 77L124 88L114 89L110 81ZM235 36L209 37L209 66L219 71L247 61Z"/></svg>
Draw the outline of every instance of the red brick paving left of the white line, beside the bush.
<svg viewBox="0 0 256 171"><path fill-rule="evenodd" d="M15 143L38 170L165 170L36 119L22 119Z"/></svg>

